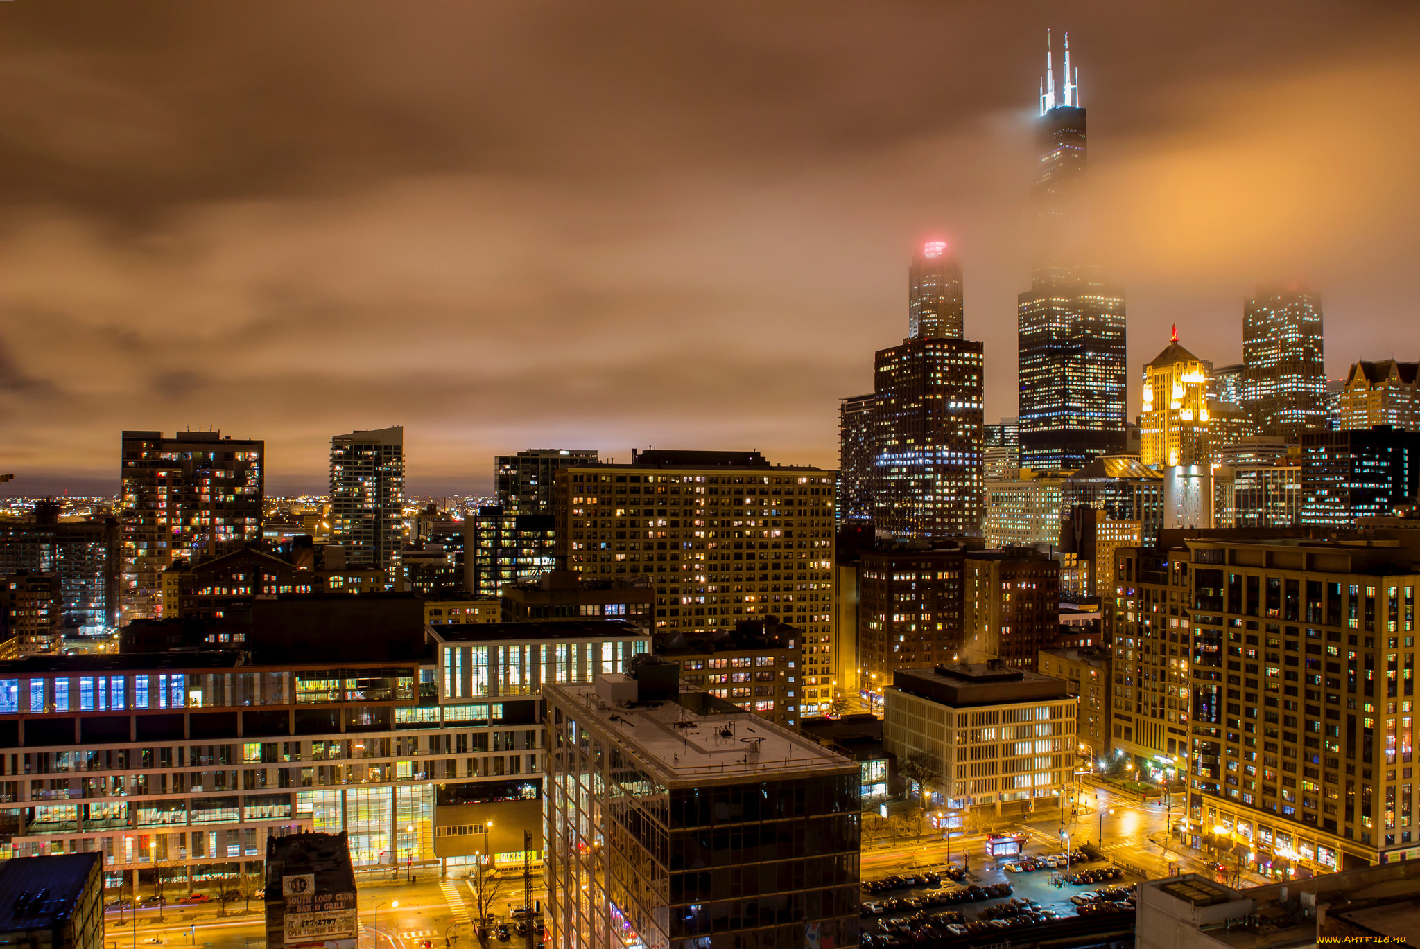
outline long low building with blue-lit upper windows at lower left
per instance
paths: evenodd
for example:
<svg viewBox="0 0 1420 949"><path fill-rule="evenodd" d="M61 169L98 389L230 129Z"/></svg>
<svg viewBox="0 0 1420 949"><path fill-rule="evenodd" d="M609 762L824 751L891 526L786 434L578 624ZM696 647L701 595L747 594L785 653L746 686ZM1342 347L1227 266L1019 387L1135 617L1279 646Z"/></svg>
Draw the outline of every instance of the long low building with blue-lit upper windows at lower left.
<svg viewBox="0 0 1420 949"><path fill-rule="evenodd" d="M523 831L542 850L544 685L650 647L605 620L426 626L400 594L253 607L173 621L178 640L125 628L152 653L0 662L0 746L24 750L0 756L0 857L92 851L112 887L226 888L273 833L345 831L356 870L463 874L471 841L437 830L487 804L515 833L477 845L515 843L493 860L521 865Z"/></svg>

